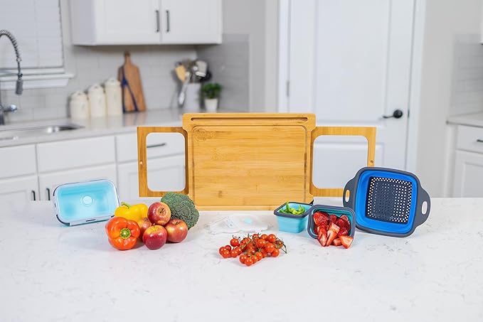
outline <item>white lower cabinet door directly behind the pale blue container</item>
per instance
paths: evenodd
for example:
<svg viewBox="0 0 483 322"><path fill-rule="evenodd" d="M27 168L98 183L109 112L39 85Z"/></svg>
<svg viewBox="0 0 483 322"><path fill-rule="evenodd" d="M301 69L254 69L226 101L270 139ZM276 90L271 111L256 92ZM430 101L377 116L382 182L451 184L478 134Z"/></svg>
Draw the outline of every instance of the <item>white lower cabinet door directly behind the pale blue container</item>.
<svg viewBox="0 0 483 322"><path fill-rule="evenodd" d="M117 184L116 165L95 166L92 168L80 168L68 171L43 173L38 175L38 183L41 190L41 200L51 200L53 190L63 183L74 183L97 179L107 179Z"/></svg>

